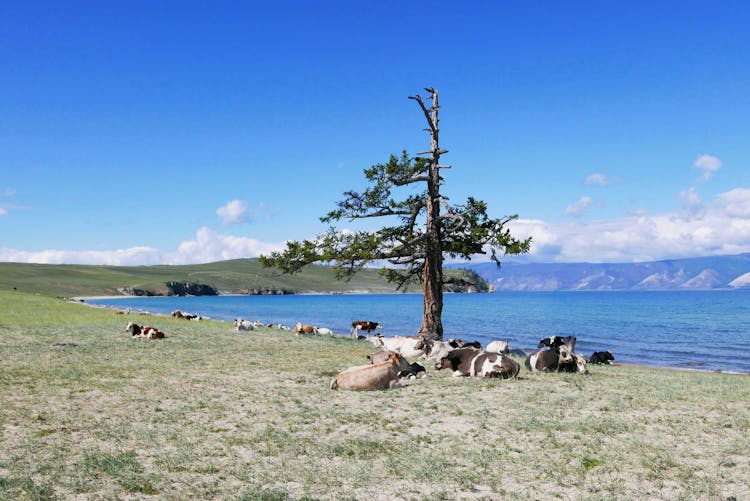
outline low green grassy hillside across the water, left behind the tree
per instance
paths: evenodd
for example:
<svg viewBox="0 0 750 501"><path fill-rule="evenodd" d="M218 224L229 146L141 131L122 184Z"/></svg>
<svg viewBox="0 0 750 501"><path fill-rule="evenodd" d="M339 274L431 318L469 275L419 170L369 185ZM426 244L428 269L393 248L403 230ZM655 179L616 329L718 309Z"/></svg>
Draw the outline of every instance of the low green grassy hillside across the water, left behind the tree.
<svg viewBox="0 0 750 501"><path fill-rule="evenodd" d="M450 271L457 273L458 271ZM460 273L467 273L461 271ZM325 266L308 266L295 275L263 268L257 259L235 259L184 266L89 266L0 263L0 290L48 296L117 295L120 287L157 290L168 281L208 284L219 293L247 293L251 289L302 292L396 292L378 270L364 269L350 281L336 280ZM411 287L411 291L421 290Z"/></svg>

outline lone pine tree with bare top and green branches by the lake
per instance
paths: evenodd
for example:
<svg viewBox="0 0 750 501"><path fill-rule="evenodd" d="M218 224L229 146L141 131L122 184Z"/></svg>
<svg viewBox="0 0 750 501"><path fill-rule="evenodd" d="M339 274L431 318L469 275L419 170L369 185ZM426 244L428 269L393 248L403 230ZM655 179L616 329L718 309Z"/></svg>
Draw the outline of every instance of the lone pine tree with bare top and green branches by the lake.
<svg viewBox="0 0 750 501"><path fill-rule="evenodd" d="M443 258L471 259L488 254L500 266L499 255L528 252L531 238L519 240L507 224L517 215L491 219L487 204L469 197L464 204L450 204L441 195L449 165L440 163L447 150L440 148L438 92L425 89L431 101L428 108L418 94L417 102L427 120L430 149L411 157L391 155L386 163L364 170L368 187L364 192L347 191L338 208L320 218L328 231L314 240L287 242L282 252L261 256L264 266L294 273L314 262L330 263L337 278L349 278L368 263L386 261L381 273L398 288L421 282L424 294L422 326L417 335L423 340L443 337L443 285L455 281L443 275ZM421 188L416 189L415 187ZM401 198L395 191L404 191ZM411 194L409 194L411 192ZM333 224L367 218L384 218L391 225L376 231L339 231Z"/></svg>

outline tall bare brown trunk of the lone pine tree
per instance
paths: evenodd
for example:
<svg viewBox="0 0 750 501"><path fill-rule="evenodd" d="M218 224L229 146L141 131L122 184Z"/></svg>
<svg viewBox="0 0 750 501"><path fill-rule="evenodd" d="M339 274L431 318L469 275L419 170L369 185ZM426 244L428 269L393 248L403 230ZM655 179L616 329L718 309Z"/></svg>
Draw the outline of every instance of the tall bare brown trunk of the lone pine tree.
<svg viewBox="0 0 750 501"><path fill-rule="evenodd" d="M427 181L426 257L423 271L424 310L422 326L417 335L420 339L443 338L443 248L440 235L440 150L438 129L438 96L434 89L432 107L427 122L430 126L430 167ZM420 102L421 105L421 102ZM422 106L424 110L424 106Z"/></svg>

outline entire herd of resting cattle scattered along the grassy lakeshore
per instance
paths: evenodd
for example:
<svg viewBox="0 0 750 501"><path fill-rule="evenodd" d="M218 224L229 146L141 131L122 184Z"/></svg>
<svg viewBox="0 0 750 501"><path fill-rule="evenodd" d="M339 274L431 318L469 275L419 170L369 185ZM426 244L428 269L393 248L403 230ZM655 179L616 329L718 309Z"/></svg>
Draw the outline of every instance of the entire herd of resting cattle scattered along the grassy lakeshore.
<svg viewBox="0 0 750 501"><path fill-rule="evenodd" d="M175 318L200 320L198 315L176 310ZM237 331L252 331L260 327L291 330L297 335L326 334L334 335L331 329L315 327L297 322L293 328L282 324L263 324L236 318L234 326ZM550 336L539 340L537 350L526 355L521 350L511 350L507 341L492 341L482 348L478 341L464 342L450 339L448 341L421 340L411 336L385 337L382 334L370 335L382 329L378 322L352 322L352 337L366 339L378 352L367 356L365 365L350 367L338 374L331 381L331 389L345 390L382 390L401 386L401 380L422 378L427 375L424 366L407 359L425 359L434 362L435 370L450 369L454 377L477 378L515 378L521 372L521 366L510 354L525 356L524 366L531 372L577 372L587 374L587 364L609 364L614 360L610 351L597 351L591 357L576 353L575 336ZM164 333L156 327L144 327L129 322L125 328L133 338L162 339ZM366 335L361 335L364 332Z"/></svg>

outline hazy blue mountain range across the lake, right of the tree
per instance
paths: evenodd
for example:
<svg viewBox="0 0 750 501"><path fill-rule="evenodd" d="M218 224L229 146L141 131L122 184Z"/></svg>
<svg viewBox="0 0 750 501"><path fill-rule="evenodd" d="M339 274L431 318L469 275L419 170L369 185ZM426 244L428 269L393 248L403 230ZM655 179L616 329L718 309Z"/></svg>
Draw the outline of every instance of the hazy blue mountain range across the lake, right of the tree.
<svg viewBox="0 0 750 501"><path fill-rule="evenodd" d="M465 263L497 291L750 288L750 253L645 263Z"/></svg>

